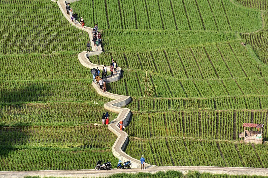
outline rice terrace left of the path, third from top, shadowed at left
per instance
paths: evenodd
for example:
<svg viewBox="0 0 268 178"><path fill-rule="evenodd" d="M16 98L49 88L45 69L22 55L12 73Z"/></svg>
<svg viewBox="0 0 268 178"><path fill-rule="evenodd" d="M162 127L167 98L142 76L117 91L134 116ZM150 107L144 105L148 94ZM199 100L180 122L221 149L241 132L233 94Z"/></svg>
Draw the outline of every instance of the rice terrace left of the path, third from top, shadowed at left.
<svg viewBox="0 0 268 178"><path fill-rule="evenodd" d="M0 82L0 102L110 101L99 96L91 82L92 79Z"/></svg>

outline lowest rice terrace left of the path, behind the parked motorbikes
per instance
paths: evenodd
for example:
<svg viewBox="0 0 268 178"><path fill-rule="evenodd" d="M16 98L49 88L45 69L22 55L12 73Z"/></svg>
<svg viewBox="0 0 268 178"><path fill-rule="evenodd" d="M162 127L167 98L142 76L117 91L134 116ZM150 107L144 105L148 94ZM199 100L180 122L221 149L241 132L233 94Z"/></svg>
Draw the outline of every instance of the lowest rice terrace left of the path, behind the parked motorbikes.
<svg viewBox="0 0 268 178"><path fill-rule="evenodd" d="M1 171L33 171L59 169L94 169L98 160L111 161L115 167L117 158L110 150L6 148L0 149Z"/></svg>

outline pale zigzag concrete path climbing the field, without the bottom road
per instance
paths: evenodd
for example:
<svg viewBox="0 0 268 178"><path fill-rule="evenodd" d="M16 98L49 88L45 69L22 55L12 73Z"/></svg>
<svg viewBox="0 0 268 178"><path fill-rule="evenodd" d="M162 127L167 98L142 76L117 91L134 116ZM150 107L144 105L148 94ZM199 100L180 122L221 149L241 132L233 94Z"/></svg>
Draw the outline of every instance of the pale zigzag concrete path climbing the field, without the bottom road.
<svg viewBox="0 0 268 178"><path fill-rule="evenodd" d="M68 3L73 2L73 1L76 1L76 0L68 1ZM93 29L90 28L90 27L87 27L87 26L84 26L84 28L82 28L79 23L75 24L74 22L72 22L70 20L69 15L66 14L66 11L65 11L65 7L66 7L66 1L65 0L59 0L59 1L57 1L57 3L58 3L58 6L59 6L60 10L63 13L63 15L65 16L65 18L68 19L68 21L72 25L74 25L75 27L77 27L79 29L82 29L84 31L87 31L88 34L89 34L90 41L91 41L93 39L93 35L92 35L92 30ZM75 9L74 9L74 12L75 12ZM92 69L92 68L97 68L98 67L101 70L103 65L93 64L88 60L89 56L95 56L95 55L99 55L99 54L102 53L101 52L102 51L101 46L99 46L99 49L98 49L100 51L96 52L93 45L94 44L91 41L91 46L93 47L92 48L93 51L90 52L90 53L87 53L87 52L79 53L78 59L79 59L80 63L83 66L87 67L87 68ZM109 66L107 66L107 70L110 71ZM113 77L108 76L108 78L105 79L104 81L106 81L106 84L110 83L110 82L118 81L120 79L120 76L121 76L121 68L119 67L117 69L117 73L115 73L115 75ZM100 95L102 95L104 97L114 99L113 101L110 101L110 102L104 104L104 108L109 110L109 111L119 113L117 118L115 118L113 121L111 121L109 123L109 125L108 125L108 129L111 132L113 132L115 135L117 135L116 142L114 143L114 145L112 147L113 155L116 156L117 158L119 158L122 161L131 160L133 168L140 167L140 161L139 160L132 158L131 156L127 155L123 151L125 149L126 144L128 143L128 134L126 132L124 132L124 131L120 132L120 130L119 130L118 126L117 126L117 124L120 122L120 120L123 120L124 125L128 124L128 121L129 121L129 118L130 118L130 115L131 115L130 109L128 109L128 108L120 108L120 107L127 105L131 101L130 96L122 96L122 95L113 94L113 93L109 93L109 92L103 92L103 90L101 90L94 82L92 82L92 85ZM149 167L149 166L152 166L152 165L146 164L145 166Z"/></svg>

